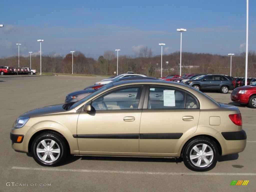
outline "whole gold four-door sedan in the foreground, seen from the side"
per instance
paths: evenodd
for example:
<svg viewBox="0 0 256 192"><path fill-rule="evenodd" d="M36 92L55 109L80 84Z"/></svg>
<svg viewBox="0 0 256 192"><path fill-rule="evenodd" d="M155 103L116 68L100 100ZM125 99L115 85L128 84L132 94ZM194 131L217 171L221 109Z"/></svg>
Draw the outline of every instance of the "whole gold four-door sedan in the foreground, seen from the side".
<svg viewBox="0 0 256 192"><path fill-rule="evenodd" d="M62 165L68 154L181 157L189 169L208 171L219 156L242 152L247 136L236 106L182 83L140 79L26 112L10 139L42 166Z"/></svg>

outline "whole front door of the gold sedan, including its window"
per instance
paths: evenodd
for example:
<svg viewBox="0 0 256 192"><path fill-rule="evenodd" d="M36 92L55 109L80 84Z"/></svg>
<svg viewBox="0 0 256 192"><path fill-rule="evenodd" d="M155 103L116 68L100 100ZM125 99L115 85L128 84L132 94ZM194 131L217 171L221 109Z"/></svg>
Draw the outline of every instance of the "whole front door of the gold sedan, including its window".
<svg viewBox="0 0 256 192"><path fill-rule="evenodd" d="M143 86L119 88L93 99L91 106L94 112L82 110L77 122L80 154L86 154L85 151L139 151L140 119L145 95L145 90L144 94L142 90ZM141 96L143 99L140 103Z"/></svg>

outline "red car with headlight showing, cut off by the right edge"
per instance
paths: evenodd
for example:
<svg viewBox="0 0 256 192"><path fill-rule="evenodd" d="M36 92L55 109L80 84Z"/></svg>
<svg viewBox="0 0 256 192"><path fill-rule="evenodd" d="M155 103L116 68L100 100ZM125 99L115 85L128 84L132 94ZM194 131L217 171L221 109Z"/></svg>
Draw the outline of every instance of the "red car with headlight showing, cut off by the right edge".
<svg viewBox="0 0 256 192"><path fill-rule="evenodd" d="M250 86L234 89L230 98L236 103L248 104L251 108L256 108L256 81Z"/></svg>

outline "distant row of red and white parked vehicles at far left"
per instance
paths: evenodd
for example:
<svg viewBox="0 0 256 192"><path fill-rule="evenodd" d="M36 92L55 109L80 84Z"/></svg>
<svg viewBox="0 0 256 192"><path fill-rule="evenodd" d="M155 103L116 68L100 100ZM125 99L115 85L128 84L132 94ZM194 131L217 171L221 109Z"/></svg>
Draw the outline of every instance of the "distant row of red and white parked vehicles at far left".
<svg viewBox="0 0 256 192"><path fill-rule="evenodd" d="M35 69L30 69L28 67L8 67L8 66L0 66L0 75L16 75L16 74L36 74L37 71Z"/></svg>

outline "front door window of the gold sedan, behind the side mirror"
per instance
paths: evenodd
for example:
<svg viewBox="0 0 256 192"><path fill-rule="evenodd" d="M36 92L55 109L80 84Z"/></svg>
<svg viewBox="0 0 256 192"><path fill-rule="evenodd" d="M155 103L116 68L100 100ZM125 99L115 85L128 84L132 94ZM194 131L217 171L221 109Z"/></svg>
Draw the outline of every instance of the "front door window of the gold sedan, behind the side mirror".
<svg viewBox="0 0 256 192"><path fill-rule="evenodd" d="M138 109L142 87L127 87L107 93L92 101L97 110Z"/></svg>

